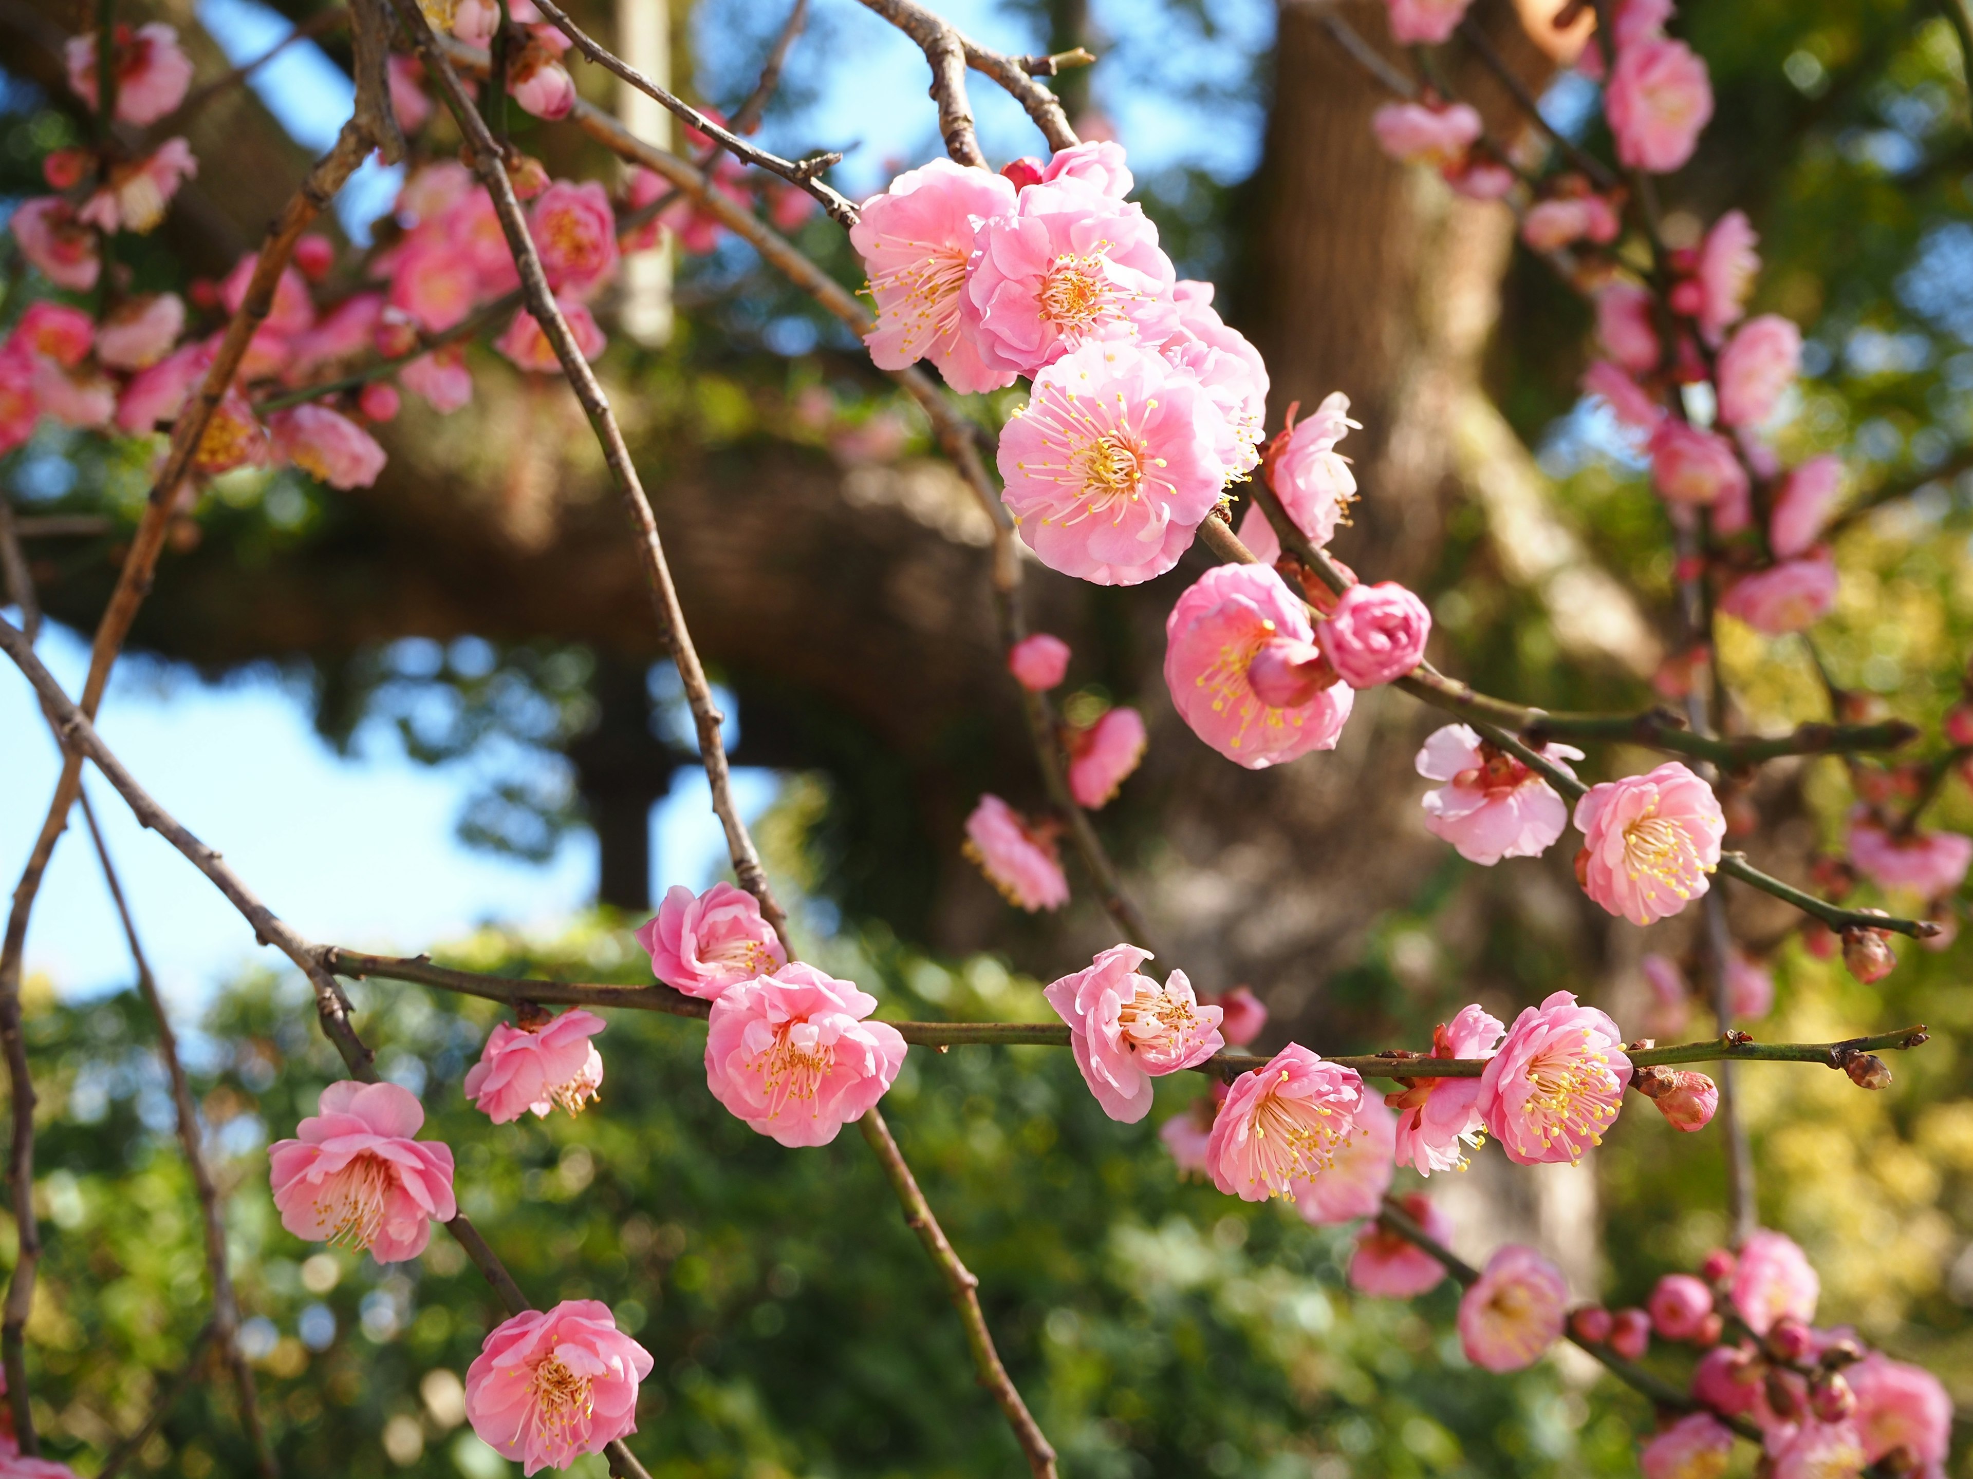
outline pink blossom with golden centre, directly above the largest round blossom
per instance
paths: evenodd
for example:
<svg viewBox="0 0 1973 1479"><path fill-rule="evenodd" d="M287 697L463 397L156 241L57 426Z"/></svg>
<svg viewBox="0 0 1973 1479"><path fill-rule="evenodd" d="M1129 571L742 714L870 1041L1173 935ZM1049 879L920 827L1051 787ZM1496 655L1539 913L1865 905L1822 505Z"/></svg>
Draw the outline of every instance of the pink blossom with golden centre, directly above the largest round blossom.
<svg viewBox="0 0 1973 1479"><path fill-rule="evenodd" d="M973 248L961 314L996 371L1034 375L1091 343L1162 343L1178 325L1178 274L1138 205L1030 185L1012 213L981 221Z"/></svg>

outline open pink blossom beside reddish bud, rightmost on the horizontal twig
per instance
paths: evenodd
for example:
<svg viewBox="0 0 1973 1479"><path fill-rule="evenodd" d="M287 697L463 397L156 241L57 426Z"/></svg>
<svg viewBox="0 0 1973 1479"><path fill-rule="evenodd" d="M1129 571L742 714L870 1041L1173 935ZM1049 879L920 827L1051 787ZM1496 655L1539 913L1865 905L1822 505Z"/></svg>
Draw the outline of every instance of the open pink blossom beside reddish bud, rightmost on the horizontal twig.
<svg viewBox="0 0 1973 1479"><path fill-rule="evenodd" d="M1515 1165L1580 1162L1624 1108L1624 1033L1574 992L1521 1008L1480 1075L1480 1116Z"/></svg>

